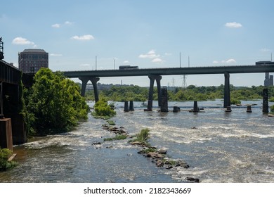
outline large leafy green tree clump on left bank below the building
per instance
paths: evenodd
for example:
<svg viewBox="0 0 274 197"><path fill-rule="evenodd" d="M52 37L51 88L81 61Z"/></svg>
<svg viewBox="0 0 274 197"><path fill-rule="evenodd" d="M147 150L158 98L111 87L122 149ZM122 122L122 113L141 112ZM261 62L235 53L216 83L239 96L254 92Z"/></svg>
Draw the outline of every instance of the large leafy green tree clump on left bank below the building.
<svg viewBox="0 0 274 197"><path fill-rule="evenodd" d="M79 92L79 86L61 72L41 68L24 92L29 135L67 132L87 120L89 106Z"/></svg>

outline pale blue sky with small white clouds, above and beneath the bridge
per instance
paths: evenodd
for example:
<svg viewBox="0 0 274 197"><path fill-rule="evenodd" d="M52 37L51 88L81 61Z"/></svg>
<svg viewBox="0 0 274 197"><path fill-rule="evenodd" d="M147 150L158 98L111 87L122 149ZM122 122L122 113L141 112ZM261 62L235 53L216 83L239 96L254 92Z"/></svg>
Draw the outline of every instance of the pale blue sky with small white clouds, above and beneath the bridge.
<svg viewBox="0 0 274 197"><path fill-rule="evenodd" d="M4 1L0 37L5 61L44 49L51 70L254 65L274 49L274 1ZM274 56L274 54L273 54ZM220 85L223 75L188 75L188 85ZM101 78L101 83L148 86L148 77ZM235 86L263 84L264 74L230 75ZM77 80L76 80L77 81ZM163 76L181 86L183 76Z"/></svg>

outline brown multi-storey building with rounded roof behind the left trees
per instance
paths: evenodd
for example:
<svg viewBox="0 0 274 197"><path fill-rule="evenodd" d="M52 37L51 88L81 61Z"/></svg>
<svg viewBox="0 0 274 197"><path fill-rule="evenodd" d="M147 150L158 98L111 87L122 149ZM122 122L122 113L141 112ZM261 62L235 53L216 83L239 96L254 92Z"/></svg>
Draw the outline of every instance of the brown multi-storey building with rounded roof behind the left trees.
<svg viewBox="0 0 274 197"><path fill-rule="evenodd" d="M25 49L18 53L19 69L25 73L36 73L40 68L48 68L48 53L43 49Z"/></svg>

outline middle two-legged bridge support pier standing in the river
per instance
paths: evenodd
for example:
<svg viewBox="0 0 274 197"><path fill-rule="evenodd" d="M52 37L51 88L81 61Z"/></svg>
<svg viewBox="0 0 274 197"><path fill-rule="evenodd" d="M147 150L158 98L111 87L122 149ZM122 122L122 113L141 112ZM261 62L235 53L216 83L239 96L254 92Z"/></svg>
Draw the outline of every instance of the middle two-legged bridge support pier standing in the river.
<svg viewBox="0 0 274 197"><path fill-rule="evenodd" d="M161 106L161 79L162 76L159 75L149 75L150 78L150 91L148 93L148 111L152 110L152 101L153 101L153 88L154 88L154 81L157 82L157 93L158 93L158 106Z"/></svg>

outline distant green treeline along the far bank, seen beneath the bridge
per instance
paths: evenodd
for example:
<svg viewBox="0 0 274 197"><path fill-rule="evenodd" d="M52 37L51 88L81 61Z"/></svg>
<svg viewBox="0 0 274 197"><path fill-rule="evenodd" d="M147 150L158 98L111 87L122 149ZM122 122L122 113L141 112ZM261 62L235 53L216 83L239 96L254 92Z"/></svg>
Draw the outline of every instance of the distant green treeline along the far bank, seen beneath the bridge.
<svg viewBox="0 0 274 197"><path fill-rule="evenodd" d="M263 98L265 87L234 87L230 85L231 103L237 104L240 101L256 100ZM190 85L186 88L176 87L168 90L169 101L207 101L216 98L223 98L224 86L218 87L195 87ZM274 101L274 87L268 87L270 101ZM99 91L99 97L107 101L147 101L148 88L138 86L113 86L110 89ZM154 88L153 99L157 100L157 88ZM94 100L93 90L86 92L86 100Z"/></svg>

